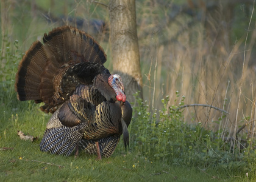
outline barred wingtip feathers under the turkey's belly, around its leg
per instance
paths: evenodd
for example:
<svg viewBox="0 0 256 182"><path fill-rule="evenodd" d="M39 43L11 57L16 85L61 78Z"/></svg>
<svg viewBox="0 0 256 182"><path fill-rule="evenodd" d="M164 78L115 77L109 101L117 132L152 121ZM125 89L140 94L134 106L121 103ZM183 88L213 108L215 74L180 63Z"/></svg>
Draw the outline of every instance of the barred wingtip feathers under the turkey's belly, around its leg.
<svg viewBox="0 0 256 182"><path fill-rule="evenodd" d="M119 138L119 135L113 135L99 140L98 142L101 155L104 157L110 157L119 143ZM82 138L82 140L79 142L79 148L91 154L97 153L97 147L94 140L85 140Z"/></svg>

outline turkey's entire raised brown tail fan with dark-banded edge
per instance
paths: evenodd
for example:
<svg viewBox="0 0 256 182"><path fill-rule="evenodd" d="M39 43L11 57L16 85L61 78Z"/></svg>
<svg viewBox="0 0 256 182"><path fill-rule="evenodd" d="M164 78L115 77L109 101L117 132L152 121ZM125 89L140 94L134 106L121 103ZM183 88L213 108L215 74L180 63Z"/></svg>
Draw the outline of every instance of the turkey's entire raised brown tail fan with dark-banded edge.
<svg viewBox="0 0 256 182"><path fill-rule="evenodd" d="M34 42L21 60L15 78L18 99L43 101L49 104L45 109L49 112L59 96L54 87L54 83L59 83L55 81L57 77L76 63L102 65L106 60L102 47L87 33L69 26L53 29L44 34L43 44Z"/></svg>

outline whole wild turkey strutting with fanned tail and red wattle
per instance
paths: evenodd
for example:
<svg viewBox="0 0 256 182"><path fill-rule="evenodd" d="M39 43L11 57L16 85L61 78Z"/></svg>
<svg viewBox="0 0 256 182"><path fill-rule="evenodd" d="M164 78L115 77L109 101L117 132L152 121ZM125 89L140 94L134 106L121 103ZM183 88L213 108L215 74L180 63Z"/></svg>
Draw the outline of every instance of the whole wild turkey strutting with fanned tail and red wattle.
<svg viewBox="0 0 256 182"><path fill-rule="evenodd" d="M21 60L15 90L20 101L43 102L51 116L42 151L70 155L76 146L110 157L123 133L129 144L132 107L119 75L110 75L102 47L74 27L58 27L34 42Z"/></svg>

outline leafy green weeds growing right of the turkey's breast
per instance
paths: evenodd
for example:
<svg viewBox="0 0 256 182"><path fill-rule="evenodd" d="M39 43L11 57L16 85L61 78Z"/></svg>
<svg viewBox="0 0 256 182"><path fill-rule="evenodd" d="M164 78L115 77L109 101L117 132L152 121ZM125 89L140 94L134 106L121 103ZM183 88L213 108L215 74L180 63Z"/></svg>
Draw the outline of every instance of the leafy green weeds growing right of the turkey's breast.
<svg viewBox="0 0 256 182"><path fill-rule="evenodd" d="M177 91L174 105L169 106L166 96L162 110L149 112L147 102L137 97L130 126L132 149L146 158L175 166L210 167L225 172L256 170L255 151L230 150L230 143L218 137L219 131L207 130L202 123L187 124L179 109L184 100L185 96Z"/></svg>

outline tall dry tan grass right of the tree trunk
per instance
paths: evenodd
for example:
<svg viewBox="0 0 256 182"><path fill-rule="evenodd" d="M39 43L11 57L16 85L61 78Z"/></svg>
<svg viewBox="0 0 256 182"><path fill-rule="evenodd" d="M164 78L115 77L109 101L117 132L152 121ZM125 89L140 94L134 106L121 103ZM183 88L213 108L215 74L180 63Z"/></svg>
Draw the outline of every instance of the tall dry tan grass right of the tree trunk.
<svg viewBox="0 0 256 182"><path fill-rule="evenodd" d="M185 104L224 109L229 115L211 107L188 107L183 112L184 120L202 123L207 129L219 130L223 139L232 137L236 141L236 132L245 123L248 125L240 131L241 135L254 137L255 132L255 22L252 21L255 15L252 5L247 12L250 16L244 15L247 25L241 23L237 27L240 22L233 17L231 32L227 32L220 25L229 24L223 22L226 10L221 6L218 15L214 14L216 17L203 13L201 18L207 16L207 19L198 21L185 14L171 19L169 8L160 3L137 4L144 96L153 109L162 107L160 100L165 95L169 95L168 104L173 104L177 90L186 97ZM241 8L235 8L235 12L244 13ZM208 24L216 36L211 36ZM240 35L235 35L237 29L242 32ZM231 44L218 38L226 32L230 33L226 36Z"/></svg>

